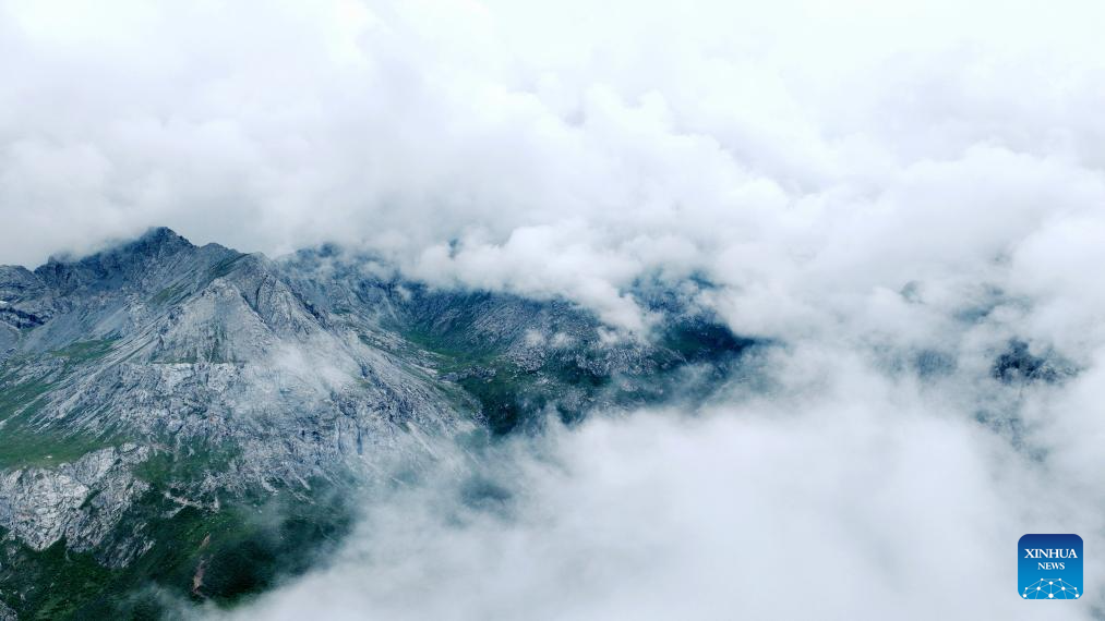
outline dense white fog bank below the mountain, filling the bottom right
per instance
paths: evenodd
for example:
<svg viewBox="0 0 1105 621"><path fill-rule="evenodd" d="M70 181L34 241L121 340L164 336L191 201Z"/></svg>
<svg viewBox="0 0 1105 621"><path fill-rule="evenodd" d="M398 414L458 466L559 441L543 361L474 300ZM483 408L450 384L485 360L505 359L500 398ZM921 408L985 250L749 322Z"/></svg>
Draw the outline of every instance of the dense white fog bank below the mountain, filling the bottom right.
<svg viewBox="0 0 1105 621"><path fill-rule="evenodd" d="M775 368L797 378L791 365L824 368L818 355ZM790 397L694 417L596 416L476 459L442 453L425 481L366 499L325 568L208 612L1091 618L1086 607L1027 609L1014 592L1025 532L1078 532L1087 550L1099 540L1096 501L1077 496L1071 473L1040 468L944 390L836 363L815 385L786 379ZM1090 578L1101 564L1087 563Z"/></svg>

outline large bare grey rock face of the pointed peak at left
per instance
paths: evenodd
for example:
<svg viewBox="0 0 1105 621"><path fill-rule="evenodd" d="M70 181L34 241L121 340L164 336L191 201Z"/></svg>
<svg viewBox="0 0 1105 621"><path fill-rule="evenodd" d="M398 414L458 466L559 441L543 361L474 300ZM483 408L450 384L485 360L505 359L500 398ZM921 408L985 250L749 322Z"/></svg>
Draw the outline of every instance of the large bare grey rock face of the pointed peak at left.
<svg viewBox="0 0 1105 621"><path fill-rule="evenodd" d="M125 564L145 549L112 529L149 489L131 467L151 454L188 465L159 474L166 497L218 507L370 468L412 428L473 425L432 372L327 321L273 261L168 229L0 268L0 458L17 460L0 471L0 527L34 550L109 545ZM23 467L11 438L92 450Z"/></svg>

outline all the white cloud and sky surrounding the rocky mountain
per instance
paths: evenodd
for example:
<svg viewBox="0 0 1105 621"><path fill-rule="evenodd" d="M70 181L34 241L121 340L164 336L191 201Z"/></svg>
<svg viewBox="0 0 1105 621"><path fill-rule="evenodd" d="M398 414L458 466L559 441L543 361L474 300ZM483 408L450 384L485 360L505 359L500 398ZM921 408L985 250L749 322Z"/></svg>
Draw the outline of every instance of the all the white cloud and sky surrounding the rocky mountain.
<svg viewBox="0 0 1105 621"><path fill-rule="evenodd" d="M154 225L336 242L638 335L633 283L696 277L787 344L770 395L596 413L366 502L245 618L1031 618L1020 535L1105 542L1103 13L0 0L0 263ZM1065 378L997 382L1014 340ZM509 515L446 518L484 469Z"/></svg>

